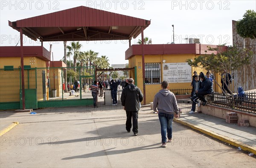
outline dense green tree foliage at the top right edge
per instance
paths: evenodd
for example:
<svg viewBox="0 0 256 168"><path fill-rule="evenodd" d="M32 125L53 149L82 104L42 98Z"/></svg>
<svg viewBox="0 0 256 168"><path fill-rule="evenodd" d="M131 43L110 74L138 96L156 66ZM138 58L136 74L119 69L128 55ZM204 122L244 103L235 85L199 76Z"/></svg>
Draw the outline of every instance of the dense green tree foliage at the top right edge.
<svg viewBox="0 0 256 168"><path fill-rule="evenodd" d="M256 39L256 12L248 10L243 19L236 22L236 32L244 38Z"/></svg>

